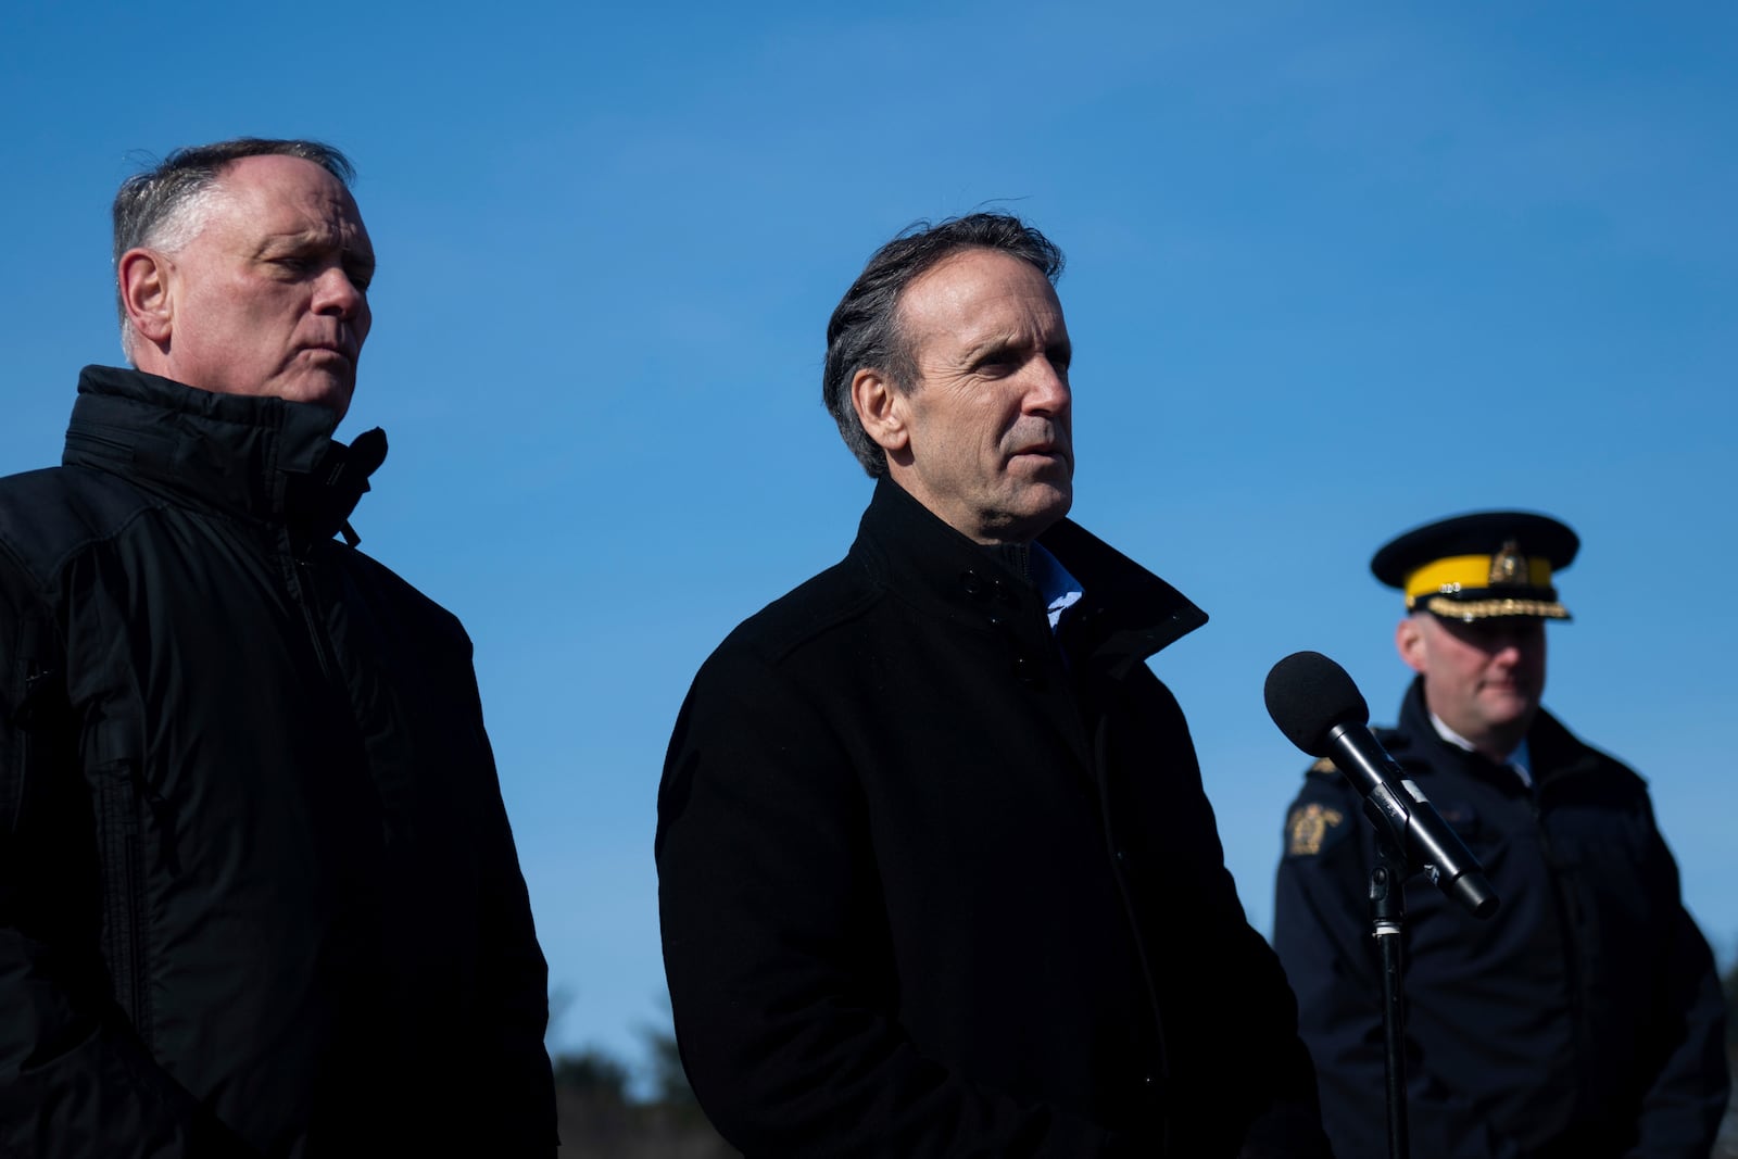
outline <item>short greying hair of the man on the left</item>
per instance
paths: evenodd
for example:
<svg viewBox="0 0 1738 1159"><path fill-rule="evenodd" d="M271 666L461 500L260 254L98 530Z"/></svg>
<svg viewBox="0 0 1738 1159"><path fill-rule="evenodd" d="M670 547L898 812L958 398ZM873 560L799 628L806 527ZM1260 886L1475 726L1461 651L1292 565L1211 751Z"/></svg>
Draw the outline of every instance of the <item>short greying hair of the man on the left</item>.
<svg viewBox="0 0 1738 1159"><path fill-rule="evenodd" d="M120 344L129 360L137 335L120 295L122 254L139 245L174 254L198 236L217 177L243 156L299 156L325 169L346 189L356 179L356 167L349 158L322 141L235 137L176 149L155 169L120 182L115 193L115 308L120 313Z"/></svg>

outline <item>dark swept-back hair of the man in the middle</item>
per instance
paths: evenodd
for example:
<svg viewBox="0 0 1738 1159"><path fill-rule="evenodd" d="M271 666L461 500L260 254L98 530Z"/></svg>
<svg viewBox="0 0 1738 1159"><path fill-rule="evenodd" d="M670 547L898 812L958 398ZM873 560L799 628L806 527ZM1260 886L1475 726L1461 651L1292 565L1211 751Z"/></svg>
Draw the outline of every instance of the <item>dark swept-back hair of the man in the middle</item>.
<svg viewBox="0 0 1738 1159"><path fill-rule="evenodd" d="M886 474L886 452L869 438L852 407L852 379L866 367L881 370L893 389L916 386L918 367L900 332L899 299L905 288L959 250L996 250L1018 257L1051 283L1062 275L1062 250L1013 214L968 214L930 224L919 221L878 248L827 321L827 361L820 396L839 424L845 445L869 478Z"/></svg>

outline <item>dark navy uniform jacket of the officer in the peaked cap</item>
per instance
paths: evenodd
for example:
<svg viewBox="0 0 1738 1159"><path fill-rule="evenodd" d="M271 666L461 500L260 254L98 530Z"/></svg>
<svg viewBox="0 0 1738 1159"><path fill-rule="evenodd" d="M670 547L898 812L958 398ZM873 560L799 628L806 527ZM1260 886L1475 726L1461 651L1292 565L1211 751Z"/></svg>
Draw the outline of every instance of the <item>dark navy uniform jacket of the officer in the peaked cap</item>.
<svg viewBox="0 0 1738 1159"><path fill-rule="evenodd" d="M1443 740L1420 681L1380 738L1483 862L1472 917L1406 884L1415 1156L1707 1156L1726 1105L1722 1001L1641 777L1540 712L1535 789ZM1370 822L1317 766L1286 824L1274 945L1340 1159L1387 1156Z"/></svg>

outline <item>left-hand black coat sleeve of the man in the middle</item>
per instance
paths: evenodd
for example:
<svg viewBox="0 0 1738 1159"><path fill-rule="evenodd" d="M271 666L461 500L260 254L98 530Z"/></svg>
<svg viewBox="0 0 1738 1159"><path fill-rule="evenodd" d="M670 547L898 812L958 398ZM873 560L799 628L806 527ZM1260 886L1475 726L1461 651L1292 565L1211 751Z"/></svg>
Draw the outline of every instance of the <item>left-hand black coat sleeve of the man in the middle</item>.
<svg viewBox="0 0 1738 1159"><path fill-rule="evenodd" d="M683 1067L747 1156L1144 1154L926 1058L897 983L852 761L805 697L726 643L659 791L659 909Z"/></svg>

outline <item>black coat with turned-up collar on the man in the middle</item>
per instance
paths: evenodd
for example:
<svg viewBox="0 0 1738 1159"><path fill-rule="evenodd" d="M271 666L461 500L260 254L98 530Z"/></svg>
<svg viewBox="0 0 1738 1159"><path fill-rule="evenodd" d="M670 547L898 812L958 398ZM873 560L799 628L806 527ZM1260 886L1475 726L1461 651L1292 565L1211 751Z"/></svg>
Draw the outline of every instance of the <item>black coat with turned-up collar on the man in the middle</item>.
<svg viewBox="0 0 1738 1159"><path fill-rule="evenodd" d="M695 678L664 961L700 1105L753 1157L1323 1154L1142 662L1206 617L1071 523L1043 544L1086 593L1060 650L1029 582L883 481L845 561Z"/></svg>

